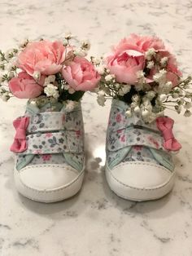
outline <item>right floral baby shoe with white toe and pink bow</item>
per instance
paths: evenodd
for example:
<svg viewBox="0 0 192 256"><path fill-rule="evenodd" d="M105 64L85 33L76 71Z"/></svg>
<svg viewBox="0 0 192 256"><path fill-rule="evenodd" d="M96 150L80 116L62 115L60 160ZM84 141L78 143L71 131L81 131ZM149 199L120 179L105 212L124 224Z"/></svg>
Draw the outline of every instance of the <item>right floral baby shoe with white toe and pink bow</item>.
<svg viewBox="0 0 192 256"><path fill-rule="evenodd" d="M173 120L158 117L146 124L126 115L129 105L113 99L107 128L107 183L132 201L155 200L172 190L176 172L172 151L181 148L172 134Z"/></svg>

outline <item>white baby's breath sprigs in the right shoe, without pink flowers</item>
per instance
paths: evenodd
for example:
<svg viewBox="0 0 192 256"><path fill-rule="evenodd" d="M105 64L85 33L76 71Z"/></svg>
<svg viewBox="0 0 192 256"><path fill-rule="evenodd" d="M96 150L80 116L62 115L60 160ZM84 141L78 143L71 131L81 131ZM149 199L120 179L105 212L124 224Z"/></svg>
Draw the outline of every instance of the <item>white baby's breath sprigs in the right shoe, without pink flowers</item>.
<svg viewBox="0 0 192 256"><path fill-rule="evenodd" d="M190 117L192 77L180 80L179 84L172 88L172 82L166 78L168 58L157 59L155 51L146 52L146 68L158 65L159 72L152 77L152 82L148 82L146 80L148 71L144 68L144 71L137 73L135 85L116 82L116 76L110 73L102 58L92 57L91 60L101 75L100 84L95 90L98 94L98 104L103 106L107 99L123 100L129 104L127 111L129 117L135 113L141 115L146 122L154 121L156 117L164 115L166 108L177 111L177 113L181 113L184 108L184 116Z"/></svg>

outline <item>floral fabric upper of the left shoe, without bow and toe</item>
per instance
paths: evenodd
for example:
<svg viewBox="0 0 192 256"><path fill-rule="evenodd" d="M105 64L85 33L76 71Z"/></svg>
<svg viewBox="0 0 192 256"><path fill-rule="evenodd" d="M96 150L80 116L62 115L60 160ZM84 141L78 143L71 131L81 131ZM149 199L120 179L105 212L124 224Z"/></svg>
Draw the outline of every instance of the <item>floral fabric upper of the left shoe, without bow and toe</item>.
<svg viewBox="0 0 192 256"><path fill-rule="evenodd" d="M85 162L84 127L81 104L67 112L62 104L34 108L28 104L25 116L30 117L27 130L28 148L16 154L16 168L27 165L68 165L81 170Z"/></svg>

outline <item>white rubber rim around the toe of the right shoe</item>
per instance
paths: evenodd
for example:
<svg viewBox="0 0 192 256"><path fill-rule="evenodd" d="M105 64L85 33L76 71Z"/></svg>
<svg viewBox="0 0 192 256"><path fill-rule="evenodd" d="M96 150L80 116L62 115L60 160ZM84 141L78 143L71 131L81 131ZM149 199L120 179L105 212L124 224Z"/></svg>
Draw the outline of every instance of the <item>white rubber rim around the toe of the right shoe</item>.
<svg viewBox="0 0 192 256"><path fill-rule="evenodd" d="M120 182L111 173L111 170L106 165L106 179L111 191L115 192L117 196L120 196L130 201L151 201L157 200L170 192L174 186L176 172L173 171L170 178L159 186L153 188L137 188L129 186ZM142 177L141 177L142 178Z"/></svg>

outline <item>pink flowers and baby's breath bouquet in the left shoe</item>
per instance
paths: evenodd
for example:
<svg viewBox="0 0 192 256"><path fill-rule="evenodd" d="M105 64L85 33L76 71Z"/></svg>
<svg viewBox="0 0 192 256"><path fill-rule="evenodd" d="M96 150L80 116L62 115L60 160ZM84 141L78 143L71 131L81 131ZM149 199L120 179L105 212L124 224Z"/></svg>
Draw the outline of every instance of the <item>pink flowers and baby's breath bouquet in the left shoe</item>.
<svg viewBox="0 0 192 256"><path fill-rule="evenodd" d="M48 101L76 102L86 90L94 90L100 75L85 56L88 41L77 42L72 34L63 42L28 40L7 53L0 51L0 96L15 96L40 104Z"/></svg>

